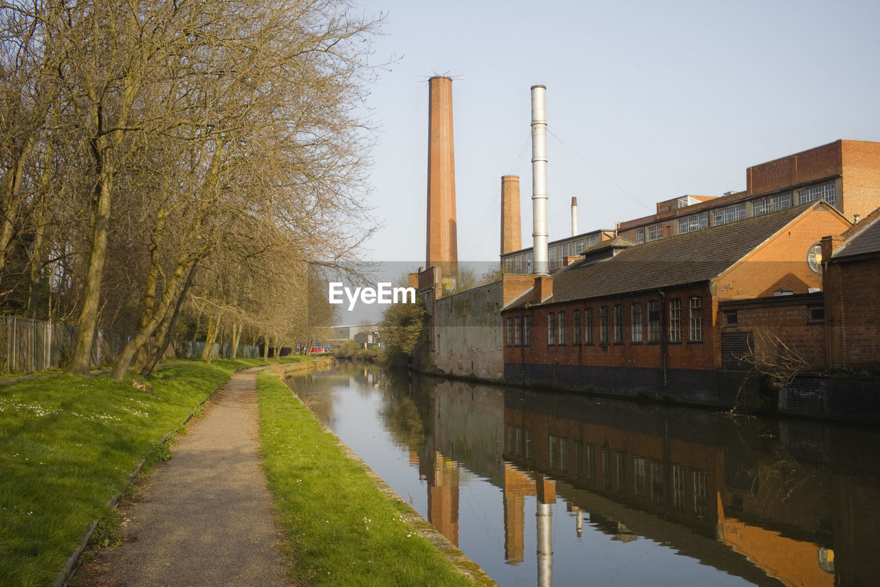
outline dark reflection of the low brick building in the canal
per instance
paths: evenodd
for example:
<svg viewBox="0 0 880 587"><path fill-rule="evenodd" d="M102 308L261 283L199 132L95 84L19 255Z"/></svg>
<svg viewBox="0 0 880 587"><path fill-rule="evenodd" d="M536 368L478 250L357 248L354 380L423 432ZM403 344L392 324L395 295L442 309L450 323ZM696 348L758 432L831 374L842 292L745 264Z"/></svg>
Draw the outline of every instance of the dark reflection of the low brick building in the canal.
<svg viewBox="0 0 880 587"><path fill-rule="evenodd" d="M785 584L829 587L870 584L880 571L868 553L880 528L876 482L744 444L739 434L757 438L759 422L730 422L729 435L696 412L631 417L583 398L517 396L504 415L509 561L521 559L523 496L536 495L540 479L615 539L646 536L755 583L770 580L755 567Z"/></svg>

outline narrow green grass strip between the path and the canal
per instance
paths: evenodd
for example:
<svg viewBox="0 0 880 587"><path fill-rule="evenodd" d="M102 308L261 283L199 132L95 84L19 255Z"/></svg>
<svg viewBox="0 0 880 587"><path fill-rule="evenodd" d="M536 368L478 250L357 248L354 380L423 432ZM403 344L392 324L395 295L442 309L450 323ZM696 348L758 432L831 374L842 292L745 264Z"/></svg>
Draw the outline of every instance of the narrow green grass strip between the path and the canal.
<svg viewBox="0 0 880 587"><path fill-rule="evenodd" d="M291 578L308 585L470 585L275 376L257 376L268 485Z"/></svg>

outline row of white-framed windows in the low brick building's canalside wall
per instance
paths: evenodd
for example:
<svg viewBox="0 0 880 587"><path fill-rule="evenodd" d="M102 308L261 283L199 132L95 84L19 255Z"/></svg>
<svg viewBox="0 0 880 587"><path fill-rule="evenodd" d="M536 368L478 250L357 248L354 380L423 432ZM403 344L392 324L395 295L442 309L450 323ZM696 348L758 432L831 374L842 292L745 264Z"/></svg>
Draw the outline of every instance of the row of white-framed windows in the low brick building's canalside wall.
<svg viewBox="0 0 880 587"><path fill-rule="evenodd" d="M687 306L683 308L680 298L672 297L669 300L670 342L684 341L685 333L688 334L688 341L703 340L702 297L689 297L686 303ZM570 327L568 312L547 312L547 346L567 345L569 334L570 342L575 345L660 342L660 300L630 304L628 317L626 310L623 304L599 306L598 312L594 312L594 308L575 310L571 312ZM507 346L532 346L531 316L507 319Z"/></svg>

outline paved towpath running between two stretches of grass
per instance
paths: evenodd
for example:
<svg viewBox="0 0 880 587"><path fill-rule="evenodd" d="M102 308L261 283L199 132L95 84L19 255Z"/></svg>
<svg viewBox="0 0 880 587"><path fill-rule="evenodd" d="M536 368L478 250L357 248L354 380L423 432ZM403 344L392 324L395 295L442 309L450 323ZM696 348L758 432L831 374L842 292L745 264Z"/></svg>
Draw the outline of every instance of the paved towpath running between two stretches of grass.
<svg viewBox="0 0 880 587"><path fill-rule="evenodd" d="M77 573L81 585L289 585L275 551L279 529L260 468L256 371L218 391L121 508L122 545ZM76 581L75 580L75 581Z"/></svg>

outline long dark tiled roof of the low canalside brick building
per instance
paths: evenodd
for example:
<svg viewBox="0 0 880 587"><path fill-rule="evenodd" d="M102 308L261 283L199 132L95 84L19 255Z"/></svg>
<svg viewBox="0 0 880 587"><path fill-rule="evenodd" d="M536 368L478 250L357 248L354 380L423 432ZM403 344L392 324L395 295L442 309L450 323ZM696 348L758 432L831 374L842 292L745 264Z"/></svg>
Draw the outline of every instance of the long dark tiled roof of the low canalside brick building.
<svg viewBox="0 0 880 587"><path fill-rule="evenodd" d="M807 209L796 206L621 250L590 264L579 261L554 275L553 302L705 282L720 275ZM518 300L517 300L518 301Z"/></svg>

